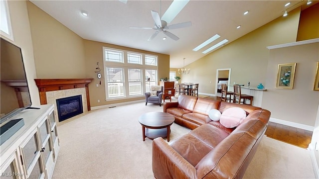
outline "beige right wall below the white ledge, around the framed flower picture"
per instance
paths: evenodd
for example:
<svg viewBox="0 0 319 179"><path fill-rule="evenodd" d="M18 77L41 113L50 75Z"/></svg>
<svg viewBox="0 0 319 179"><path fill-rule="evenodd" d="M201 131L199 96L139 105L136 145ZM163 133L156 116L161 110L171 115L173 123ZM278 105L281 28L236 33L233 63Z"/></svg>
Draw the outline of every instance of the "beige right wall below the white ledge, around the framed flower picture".
<svg viewBox="0 0 319 179"><path fill-rule="evenodd" d="M271 111L272 118L315 125L319 91L313 89L318 61L318 42L270 50L262 107ZM294 89L276 89L278 64L283 63L297 63Z"/></svg>

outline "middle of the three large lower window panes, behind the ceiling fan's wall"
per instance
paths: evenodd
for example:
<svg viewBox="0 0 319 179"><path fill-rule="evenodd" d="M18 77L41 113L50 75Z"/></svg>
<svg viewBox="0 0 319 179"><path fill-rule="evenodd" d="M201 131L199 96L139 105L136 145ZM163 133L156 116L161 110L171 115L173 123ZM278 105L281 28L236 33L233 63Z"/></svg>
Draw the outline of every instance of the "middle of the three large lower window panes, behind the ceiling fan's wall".
<svg viewBox="0 0 319 179"><path fill-rule="evenodd" d="M129 95L142 94L142 70L128 69L129 73Z"/></svg>

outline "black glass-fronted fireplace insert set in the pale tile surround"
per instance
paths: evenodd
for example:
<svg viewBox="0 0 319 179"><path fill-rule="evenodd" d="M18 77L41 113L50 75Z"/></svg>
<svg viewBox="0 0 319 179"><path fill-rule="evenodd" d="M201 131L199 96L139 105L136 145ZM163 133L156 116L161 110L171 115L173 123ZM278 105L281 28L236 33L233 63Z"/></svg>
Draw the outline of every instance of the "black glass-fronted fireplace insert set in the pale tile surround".
<svg viewBox="0 0 319 179"><path fill-rule="evenodd" d="M83 113L82 95L56 99L59 122Z"/></svg>

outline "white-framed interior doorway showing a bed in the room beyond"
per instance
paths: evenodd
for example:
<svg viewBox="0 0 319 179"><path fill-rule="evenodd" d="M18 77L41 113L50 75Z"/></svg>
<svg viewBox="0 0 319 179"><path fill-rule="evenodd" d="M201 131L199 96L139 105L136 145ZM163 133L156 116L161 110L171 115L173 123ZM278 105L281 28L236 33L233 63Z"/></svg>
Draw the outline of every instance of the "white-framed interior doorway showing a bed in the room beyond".
<svg viewBox="0 0 319 179"><path fill-rule="evenodd" d="M215 86L215 95L221 96L221 84L230 84L230 73L231 69L217 69L216 70L216 86Z"/></svg>

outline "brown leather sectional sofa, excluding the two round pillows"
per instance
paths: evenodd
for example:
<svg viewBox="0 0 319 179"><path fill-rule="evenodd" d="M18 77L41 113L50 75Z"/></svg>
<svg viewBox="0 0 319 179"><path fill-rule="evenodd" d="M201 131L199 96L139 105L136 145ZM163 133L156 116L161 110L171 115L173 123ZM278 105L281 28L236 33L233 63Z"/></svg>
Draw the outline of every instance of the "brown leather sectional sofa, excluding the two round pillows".
<svg viewBox="0 0 319 179"><path fill-rule="evenodd" d="M236 128L210 120L210 109L223 113L230 107L241 107L247 114ZM270 111L260 107L186 95L164 103L163 111L194 130L169 143L154 139L152 167L157 179L241 179L270 118Z"/></svg>

